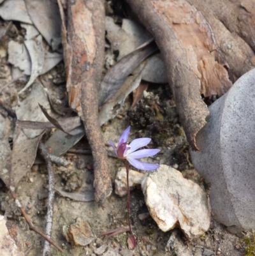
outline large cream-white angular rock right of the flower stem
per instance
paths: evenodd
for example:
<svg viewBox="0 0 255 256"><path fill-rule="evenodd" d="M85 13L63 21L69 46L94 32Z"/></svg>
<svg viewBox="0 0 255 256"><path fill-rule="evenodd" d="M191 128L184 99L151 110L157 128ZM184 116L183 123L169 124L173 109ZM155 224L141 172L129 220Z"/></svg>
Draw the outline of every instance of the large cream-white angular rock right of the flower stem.
<svg viewBox="0 0 255 256"><path fill-rule="evenodd" d="M178 225L189 239L201 236L210 226L207 195L181 172L161 165L142 181L150 215L164 232Z"/></svg>

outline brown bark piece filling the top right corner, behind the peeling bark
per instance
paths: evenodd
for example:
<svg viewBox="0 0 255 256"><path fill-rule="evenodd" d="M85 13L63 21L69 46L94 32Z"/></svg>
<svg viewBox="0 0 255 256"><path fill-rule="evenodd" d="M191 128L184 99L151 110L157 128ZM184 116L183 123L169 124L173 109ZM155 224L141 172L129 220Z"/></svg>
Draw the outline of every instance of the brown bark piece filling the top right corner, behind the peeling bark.
<svg viewBox="0 0 255 256"><path fill-rule="evenodd" d="M255 67L255 0L187 1L203 13L212 26L234 80Z"/></svg>

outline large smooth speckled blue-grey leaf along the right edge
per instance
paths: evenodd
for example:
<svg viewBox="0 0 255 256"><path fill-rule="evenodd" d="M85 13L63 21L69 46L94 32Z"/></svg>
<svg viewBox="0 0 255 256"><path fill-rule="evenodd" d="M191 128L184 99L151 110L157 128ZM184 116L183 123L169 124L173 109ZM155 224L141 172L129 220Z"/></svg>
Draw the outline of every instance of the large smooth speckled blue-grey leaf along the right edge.
<svg viewBox="0 0 255 256"><path fill-rule="evenodd" d="M255 69L245 73L210 107L198 132L193 165L212 185L215 218L231 232L255 228Z"/></svg>

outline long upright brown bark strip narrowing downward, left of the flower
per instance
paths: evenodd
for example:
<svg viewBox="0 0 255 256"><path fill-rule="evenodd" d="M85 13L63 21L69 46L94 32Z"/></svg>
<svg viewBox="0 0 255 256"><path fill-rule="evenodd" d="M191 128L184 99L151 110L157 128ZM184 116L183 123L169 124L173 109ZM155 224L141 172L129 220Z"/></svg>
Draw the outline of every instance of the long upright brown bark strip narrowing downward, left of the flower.
<svg viewBox="0 0 255 256"><path fill-rule="evenodd" d="M84 122L94 160L96 201L102 205L112 193L107 154L98 121L98 89L105 50L104 1L67 1L66 10L61 1L58 3L69 105Z"/></svg>

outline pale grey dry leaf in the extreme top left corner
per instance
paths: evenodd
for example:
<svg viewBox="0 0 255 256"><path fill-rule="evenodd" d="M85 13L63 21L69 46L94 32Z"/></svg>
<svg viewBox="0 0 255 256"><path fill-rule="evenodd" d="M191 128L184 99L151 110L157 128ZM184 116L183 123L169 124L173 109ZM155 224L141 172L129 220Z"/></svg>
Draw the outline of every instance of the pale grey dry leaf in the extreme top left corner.
<svg viewBox="0 0 255 256"><path fill-rule="evenodd" d="M17 20L33 24L25 8L24 0L5 0L0 6L0 16L3 20Z"/></svg>

